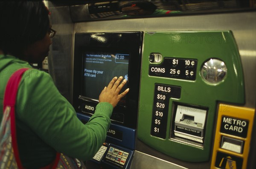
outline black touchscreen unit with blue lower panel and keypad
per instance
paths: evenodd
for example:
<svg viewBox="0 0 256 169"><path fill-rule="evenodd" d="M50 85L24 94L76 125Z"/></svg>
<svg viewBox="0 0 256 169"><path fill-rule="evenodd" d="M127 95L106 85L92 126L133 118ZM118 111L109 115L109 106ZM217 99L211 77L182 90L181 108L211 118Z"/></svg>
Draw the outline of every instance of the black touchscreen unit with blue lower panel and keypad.
<svg viewBox="0 0 256 169"><path fill-rule="evenodd" d="M127 84L123 90L131 89L114 108L106 143L93 157L94 162L103 166L126 169L131 165L137 129L142 37L142 32L75 35L73 100L83 123L95 112L102 89L113 77L124 77Z"/></svg>

